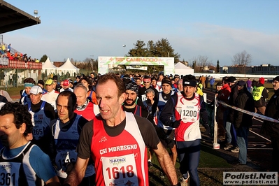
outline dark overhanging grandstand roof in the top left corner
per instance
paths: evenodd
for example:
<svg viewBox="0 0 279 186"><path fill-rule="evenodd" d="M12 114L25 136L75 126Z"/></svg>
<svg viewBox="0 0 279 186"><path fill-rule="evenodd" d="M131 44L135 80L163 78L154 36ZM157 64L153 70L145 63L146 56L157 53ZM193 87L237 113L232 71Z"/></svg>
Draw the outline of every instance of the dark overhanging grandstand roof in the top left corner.
<svg viewBox="0 0 279 186"><path fill-rule="evenodd" d="M41 23L38 17L29 15L3 0L0 0L0 20L0 34Z"/></svg>

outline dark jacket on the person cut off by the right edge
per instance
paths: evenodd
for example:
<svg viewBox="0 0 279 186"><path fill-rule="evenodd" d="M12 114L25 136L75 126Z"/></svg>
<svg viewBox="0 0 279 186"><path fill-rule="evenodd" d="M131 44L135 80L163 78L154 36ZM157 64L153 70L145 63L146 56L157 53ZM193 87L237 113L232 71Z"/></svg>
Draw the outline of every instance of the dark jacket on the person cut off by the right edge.
<svg viewBox="0 0 279 186"><path fill-rule="evenodd" d="M266 105L266 113L264 115L272 117L276 120L279 119L279 90L276 90L273 96L271 96L269 103ZM279 124L264 121L261 133L274 138L279 138Z"/></svg>

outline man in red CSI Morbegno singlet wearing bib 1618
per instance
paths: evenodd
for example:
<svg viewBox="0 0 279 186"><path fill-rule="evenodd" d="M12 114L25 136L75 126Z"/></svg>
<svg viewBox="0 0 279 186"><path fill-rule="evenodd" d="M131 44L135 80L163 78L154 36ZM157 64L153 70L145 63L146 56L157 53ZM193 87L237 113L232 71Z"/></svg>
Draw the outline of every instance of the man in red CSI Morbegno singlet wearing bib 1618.
<svg viewBox="0 0 279 186"><path fill-rule="evenodd" d="M171 185L178 184L176 170L152 124L143 117L122 110L126 96L120 77L114 73L100 77L96 85L100 115L83 127L76 166L65 183L80 183L92 155L96 185L148 185L148 146L155 151Z"/></svg>

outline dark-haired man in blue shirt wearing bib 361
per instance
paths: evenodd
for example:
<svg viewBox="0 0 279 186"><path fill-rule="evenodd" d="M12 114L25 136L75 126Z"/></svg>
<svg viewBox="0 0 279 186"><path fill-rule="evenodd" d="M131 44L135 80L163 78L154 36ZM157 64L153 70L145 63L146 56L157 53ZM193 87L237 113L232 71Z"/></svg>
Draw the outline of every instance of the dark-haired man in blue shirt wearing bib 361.
<svg viewBox="0 0 279 186"><path fill-rule="evenodd" d="M27 140L32 132L31 115L20 103L6 103L0 110L1 185L57 186L59 180L50 162L37 145Z"/></svg>

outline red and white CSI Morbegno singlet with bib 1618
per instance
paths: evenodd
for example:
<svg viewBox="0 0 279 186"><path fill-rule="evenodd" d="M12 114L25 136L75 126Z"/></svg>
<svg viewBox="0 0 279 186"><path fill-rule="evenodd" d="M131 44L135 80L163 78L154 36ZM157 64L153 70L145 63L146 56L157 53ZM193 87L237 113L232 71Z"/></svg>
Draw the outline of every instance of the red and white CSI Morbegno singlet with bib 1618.
<svg viewBox="0 0 279 186"><path fill-rule="evenodd" d="M118 136L108 136L103 120L93 120L92 158L96 185L149 185L147 150L132 113Z"/></svg>

